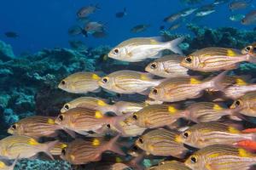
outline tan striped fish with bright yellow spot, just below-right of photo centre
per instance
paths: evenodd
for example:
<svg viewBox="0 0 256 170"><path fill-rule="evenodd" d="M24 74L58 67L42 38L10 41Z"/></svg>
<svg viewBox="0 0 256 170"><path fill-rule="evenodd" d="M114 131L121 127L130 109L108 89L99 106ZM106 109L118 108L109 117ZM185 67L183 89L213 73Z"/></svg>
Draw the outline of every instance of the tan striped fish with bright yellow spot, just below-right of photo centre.
<svg viewBox="0 0 256 170"><path fill-rule="evenodd" d="M170 126L183 116L177 105L148 105L131 115L137 126L147 128Z"/></svg>

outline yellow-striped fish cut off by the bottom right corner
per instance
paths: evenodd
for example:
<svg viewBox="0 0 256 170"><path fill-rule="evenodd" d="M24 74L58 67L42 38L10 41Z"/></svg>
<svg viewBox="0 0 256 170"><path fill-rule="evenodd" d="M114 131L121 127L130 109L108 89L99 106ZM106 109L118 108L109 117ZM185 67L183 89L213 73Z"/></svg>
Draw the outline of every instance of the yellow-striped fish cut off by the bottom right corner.
<svg viewBox="0 0 256 170"><path fill-rule="evenodd" d="M256 155L226 144L213 144L196 151L185 161L193 170L241 170L255 164Z"/></svg>

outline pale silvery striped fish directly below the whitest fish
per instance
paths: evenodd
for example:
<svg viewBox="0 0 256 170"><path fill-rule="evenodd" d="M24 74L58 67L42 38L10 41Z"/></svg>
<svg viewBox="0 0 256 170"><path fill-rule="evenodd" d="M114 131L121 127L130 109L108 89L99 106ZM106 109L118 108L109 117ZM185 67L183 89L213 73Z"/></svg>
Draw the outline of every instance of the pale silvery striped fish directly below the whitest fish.
<svg viewBox="0 0 256 170"><path fill-rule="evenodd" d="M152 77L152 75L140 71L114 71L106 77L102 77L98 84L117 94L143 94L148 88L157 86L163 81Z"/></svg>

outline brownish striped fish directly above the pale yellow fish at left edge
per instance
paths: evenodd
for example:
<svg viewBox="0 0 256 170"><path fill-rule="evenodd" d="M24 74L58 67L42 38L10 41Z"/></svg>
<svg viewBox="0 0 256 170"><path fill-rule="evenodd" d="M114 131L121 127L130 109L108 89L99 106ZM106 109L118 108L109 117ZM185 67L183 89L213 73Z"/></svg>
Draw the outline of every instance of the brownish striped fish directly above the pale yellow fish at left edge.
<svg viewBox="0 0 256 170"><path fill-rule="evenodd" d="M72 132L55 124L55 117L50 116L29 116L23 118L19 122L15 122L11 125L8 129L8 133L40 139L41 137L56 137L58 130L64 130L73 136Z"/></svg>

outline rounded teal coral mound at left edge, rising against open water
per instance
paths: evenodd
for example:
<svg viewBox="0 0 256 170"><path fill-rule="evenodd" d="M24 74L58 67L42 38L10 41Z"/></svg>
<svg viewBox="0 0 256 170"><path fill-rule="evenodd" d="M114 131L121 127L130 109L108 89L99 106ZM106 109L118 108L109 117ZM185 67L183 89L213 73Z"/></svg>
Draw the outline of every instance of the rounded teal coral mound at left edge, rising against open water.
<svg viewBox="0 0 256 170"><path fill-rule="evenodd" d="M7 61L15 58L12 47L5 42L0 41L0 60Z"/></svg>

